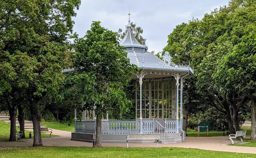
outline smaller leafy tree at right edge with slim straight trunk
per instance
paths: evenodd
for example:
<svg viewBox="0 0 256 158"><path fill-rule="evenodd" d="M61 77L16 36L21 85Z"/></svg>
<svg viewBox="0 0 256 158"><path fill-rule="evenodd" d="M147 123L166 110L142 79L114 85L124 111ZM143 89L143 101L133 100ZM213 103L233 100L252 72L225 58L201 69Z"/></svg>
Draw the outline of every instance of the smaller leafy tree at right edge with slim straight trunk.
<svg viewBox="0 0 256 158"><path fill-rule="evenodd" d="M256 28L255 28L256 31ZM242 97L242 101L251 101L252 108L252 134L251 140L256 140L255 122L255 96L256 96L256 32L250 32L242 38L241 43L234 45L226 55L218 60L214 79L223 93L232 93L232 103L240 108L242 103L236 103ZM230 100L231 100L230 99ZM234 115L234 117L238 117ZM236 119L236 118L234 118ZM238 127L236 127L238 128Z"/></svg>

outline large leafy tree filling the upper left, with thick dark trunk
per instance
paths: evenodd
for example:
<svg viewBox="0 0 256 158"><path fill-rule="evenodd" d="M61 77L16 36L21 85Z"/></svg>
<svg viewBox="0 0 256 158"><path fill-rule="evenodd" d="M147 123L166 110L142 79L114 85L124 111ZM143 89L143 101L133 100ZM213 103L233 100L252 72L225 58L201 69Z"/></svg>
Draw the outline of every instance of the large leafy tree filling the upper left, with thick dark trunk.
<svg viewBox="0 0 256 158"><path fill-rule="evenodd" d="M80 0L0 2L0 65L6 69L0 74L0 94L6 103L15 103L13 99L17 97L28 102L34 127L33 146L42 146L40 113L63 79L66 39L72 33L72 17L79 5ZM10 106L12 120L16 105ZM11 126L12 139L14 129Z"/></svg>

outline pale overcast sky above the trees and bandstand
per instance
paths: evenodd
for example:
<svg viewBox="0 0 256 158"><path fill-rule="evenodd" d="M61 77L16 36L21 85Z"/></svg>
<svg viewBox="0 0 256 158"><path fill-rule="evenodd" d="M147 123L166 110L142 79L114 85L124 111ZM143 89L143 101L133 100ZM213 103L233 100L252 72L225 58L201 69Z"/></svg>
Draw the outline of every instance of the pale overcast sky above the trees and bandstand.
<svg viewBox="0 0 256 158"><path fill-rule="evenodd" d="M117 32L131 22L142 27L148 51L162 51L168 35L176 25L188 22L192 17L202 19L205 13L227 5L229 0L81 0L74 18L74 31L83 37L92 21Z"/></svg>

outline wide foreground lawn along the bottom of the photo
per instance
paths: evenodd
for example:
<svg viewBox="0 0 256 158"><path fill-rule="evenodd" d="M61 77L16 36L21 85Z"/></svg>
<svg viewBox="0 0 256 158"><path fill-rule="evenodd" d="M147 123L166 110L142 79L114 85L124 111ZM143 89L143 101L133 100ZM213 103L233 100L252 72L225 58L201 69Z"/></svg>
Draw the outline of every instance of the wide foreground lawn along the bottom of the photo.
<svg viewBox="0 0 256 158"><path fill-rule="evenodd" d="M256 154L191 148L0 147L0 153L2 158L256 158Z"/></svg>

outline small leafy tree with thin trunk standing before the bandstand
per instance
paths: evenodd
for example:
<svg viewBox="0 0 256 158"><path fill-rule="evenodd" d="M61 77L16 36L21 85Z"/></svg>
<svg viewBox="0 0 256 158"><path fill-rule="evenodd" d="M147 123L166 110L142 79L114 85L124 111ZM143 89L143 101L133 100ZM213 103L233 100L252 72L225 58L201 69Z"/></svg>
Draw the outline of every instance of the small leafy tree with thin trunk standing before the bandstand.
<svg viewBox="0 0 256 158"><path fill-rule="evenodd" d="M109 111L118 117L132 105L120 85L128 84L136 67L130 64L116 33L100 26L100 22L92 22L84 38L75 39L74 50L76 73L93 78L93 88L84 92L84 107L96 106L96 146L101 146L102 115Z"/></svg>

